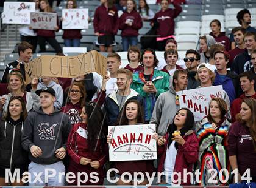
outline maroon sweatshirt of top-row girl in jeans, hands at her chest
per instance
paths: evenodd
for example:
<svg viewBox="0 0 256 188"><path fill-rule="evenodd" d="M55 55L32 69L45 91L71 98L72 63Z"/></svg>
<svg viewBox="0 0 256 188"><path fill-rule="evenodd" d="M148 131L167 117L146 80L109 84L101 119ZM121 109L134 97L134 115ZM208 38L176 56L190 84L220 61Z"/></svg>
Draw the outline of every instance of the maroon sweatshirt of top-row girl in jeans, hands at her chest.
<svg viewBox="0 0 256 188"><path fill-rule="evenodd" d="M132 26L127 25L127 19L132 21ZM142 27L142 19L136 10L132 12L124 12L119 18L119 29L122 30L121 36L138 36L138 30Z"/></svg>

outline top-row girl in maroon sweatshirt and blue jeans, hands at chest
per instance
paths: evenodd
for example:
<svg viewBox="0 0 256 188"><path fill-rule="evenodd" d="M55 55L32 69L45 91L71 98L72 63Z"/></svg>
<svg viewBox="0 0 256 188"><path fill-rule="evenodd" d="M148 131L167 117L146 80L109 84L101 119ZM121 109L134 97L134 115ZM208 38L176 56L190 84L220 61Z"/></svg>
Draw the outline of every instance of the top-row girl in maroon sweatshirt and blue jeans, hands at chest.
<svg viewBox="0 0 256 188"><path fill-rule="evenodd" d="M135 0L127 1L127 11L119 19L119 29L122 30L123 51L127 51L129 45L137 45L138 30L142 27L142 19L136 10Z"/></svg>

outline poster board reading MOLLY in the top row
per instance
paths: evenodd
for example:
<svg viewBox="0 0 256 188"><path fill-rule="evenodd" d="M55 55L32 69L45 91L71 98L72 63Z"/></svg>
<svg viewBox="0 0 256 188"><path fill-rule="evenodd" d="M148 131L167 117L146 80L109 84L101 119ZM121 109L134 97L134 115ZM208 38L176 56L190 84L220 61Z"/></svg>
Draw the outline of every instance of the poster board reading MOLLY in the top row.
<svg viewBox="0 0 256 188"><path fill-rule="evenodd" d="M30 26L33 29L55 30L57 26L57 13L32 12L30 19Z"/></svg>

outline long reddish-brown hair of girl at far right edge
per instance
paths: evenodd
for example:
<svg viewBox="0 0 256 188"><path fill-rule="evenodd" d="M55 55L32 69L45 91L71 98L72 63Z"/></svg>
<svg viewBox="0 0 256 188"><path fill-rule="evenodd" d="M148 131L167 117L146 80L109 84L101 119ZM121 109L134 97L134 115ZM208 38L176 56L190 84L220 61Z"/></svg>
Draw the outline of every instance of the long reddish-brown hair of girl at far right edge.
<svg viewBox="0 0 256 188"><path fill-rule="evenodd" d="M246 124L249 127L252 136L252 144L254 144L254 151L256 152L256 100L254 98L244 98L243 102L247 104L251 110L252 116L248 121L243 121L241 119L241 115L239 114L238 121L241 124Z"/></svg>

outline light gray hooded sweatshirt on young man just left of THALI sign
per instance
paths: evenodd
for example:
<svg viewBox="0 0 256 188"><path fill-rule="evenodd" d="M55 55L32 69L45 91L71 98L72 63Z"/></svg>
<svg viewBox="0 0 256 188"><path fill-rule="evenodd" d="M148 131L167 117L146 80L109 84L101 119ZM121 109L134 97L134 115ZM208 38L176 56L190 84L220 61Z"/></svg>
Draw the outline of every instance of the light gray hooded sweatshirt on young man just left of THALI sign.
<svg viewBox="0 0 256 188"><path fill-rule="evenodd" d="M160 136L165 135L169 124L172 123L176 112L180 109L180 106L175 104L176 91L173 86L173 76L170 76L169 80L169 90L158 96L150 121L151 124L156 125Z"/></svg>

